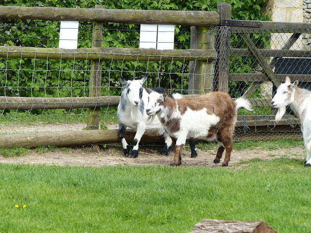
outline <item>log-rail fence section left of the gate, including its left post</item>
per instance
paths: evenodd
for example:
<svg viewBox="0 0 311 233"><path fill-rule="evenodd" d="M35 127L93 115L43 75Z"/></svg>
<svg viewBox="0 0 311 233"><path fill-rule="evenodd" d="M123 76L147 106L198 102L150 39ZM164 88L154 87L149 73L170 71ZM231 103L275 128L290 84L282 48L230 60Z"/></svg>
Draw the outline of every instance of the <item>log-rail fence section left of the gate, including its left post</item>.
<svg viewBox="0 0 311 233"><path fill-rule="evenodd" d="M103 22L186 25L195 27L195 30L207 31L207 27L219 24L219 14L217 12L118 10L105 9L101 5L96 5L95 9L0 6L0 18L94 22L92 48L66 50L59 48L0 46L0 57L2 58L91 60L89 97L24 98L4 96L0 97L0 109L73 109L87 107L89 108L87 128L92 129L92 131L1 135L0 147L62 146L119 142L117 130L99 130L100 107L116 106L120 100L118 96L100 96L102 82L101 61L196 61L200 63L196 65L196 69L201 72L206 69L206 64L211 67L210 64L217 56L211 46L203 46L202 48L191 50L101 48ZM197 40L204 41L206 38L198 38ZM199 74L196 75L195 71L193 73L194 75L191 78L198 79L197 76ZM211 80L211 78L208 80ZM198 83L201 85L202 82ZM202 88L201 86L196 86L196 89ZM125 136L129 138L134 137L133 131L127 131ZM148 140L150 139L143 138L143 141ZM154 142L159 140L162 141L161 138L152 139Z"/></svg>

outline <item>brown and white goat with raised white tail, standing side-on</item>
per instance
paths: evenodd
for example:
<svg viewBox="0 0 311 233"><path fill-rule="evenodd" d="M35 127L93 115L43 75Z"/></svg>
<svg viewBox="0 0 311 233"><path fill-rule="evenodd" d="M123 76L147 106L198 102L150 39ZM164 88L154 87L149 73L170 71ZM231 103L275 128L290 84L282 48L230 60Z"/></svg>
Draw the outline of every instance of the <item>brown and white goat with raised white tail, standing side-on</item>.
<svg viewBox="0 0 311 233"><path fill-rule="evenodd" d="M186 139L217 140L219 148L214 159L218 164L225 150L222 166L228 166L232 151L232 137L241 107L252 111L251 104L242 98L233 101L228 94L211 92L194 98L173 100L163 94L149 92L147 115L158 116L165 131L175 138L171 166L181 165L180 150Z"/></svg>

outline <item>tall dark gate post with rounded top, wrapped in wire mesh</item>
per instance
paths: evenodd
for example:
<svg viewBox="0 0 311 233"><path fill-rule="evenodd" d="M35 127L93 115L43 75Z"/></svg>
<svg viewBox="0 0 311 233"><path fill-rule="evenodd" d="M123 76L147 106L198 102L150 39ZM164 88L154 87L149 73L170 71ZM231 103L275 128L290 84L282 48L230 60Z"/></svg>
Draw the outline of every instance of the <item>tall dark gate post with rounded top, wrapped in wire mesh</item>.
<svg viewBox="0 0 311 233"><path fill-rule="evenodd" d="M231 19L231 5L222 2L217 5L217 12L220 20ZM230 38L225 27L218 27L216 29L215 50L217 59L215 63L214 89L218 91L228 92L228 73L229 73L229 49Z"/></svg>

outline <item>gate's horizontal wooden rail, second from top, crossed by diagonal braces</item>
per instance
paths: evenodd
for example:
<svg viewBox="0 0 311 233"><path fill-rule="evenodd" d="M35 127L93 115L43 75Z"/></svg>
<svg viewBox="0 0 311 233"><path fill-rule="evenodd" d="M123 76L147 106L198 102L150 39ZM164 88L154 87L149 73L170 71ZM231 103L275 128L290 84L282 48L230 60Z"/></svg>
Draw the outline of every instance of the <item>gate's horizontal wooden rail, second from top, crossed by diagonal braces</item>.
<svg viewBox="0 0 311 233"><path fill-rule="evenodd" d="M258 53L264 57L311 57L311 50L266 50L259 49ZM251 57L247 49L230 49L229 56Z"/></svg>

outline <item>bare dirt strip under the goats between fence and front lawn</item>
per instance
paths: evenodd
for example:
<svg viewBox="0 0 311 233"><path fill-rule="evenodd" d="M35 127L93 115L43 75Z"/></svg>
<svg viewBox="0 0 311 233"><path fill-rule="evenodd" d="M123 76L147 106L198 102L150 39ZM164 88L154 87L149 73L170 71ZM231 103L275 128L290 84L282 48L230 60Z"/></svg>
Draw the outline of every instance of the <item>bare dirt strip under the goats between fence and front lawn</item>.
<svg viewBox="0 0 311 233"><path fill-rule="evenodd" d="M221 166L214 164L215 150L197 150L198 157L190 158L190 151L182 150L182 165L181 166ZM286 158L305 158L305 150L297 147L291 149L278 150L239 150L233 151L229 166L241 161L261 158L270 160L277 157ZM45 164L59 166L147 166L147 165L166 165L169 166L173 160L173 152L168 156L160 156L156 150L150 149L147 146L141 147L138 158L127 158L123 154L123 149L120 146L109 146L103 148L99 152L92 152L90 147L68 148L67 150L56 149L47 153L38 153L35 150L26 156L20 157L0 157L0 163L4 164Z"/></svg>

